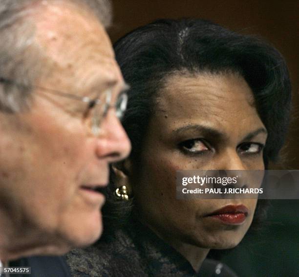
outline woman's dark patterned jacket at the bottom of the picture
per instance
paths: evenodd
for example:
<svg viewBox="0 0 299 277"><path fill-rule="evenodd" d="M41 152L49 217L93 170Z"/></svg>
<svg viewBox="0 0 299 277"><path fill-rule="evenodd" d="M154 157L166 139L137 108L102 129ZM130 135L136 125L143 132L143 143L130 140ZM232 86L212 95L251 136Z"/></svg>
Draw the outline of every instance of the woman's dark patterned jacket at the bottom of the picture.
<svg viewBox="0 0 299 277"><path fill-rule="evenodd" d="M66 261L74 277L236 277L212 259L203 262L198 275L181 254L140 224L110 232L93 246L74 249Z"/></svg>

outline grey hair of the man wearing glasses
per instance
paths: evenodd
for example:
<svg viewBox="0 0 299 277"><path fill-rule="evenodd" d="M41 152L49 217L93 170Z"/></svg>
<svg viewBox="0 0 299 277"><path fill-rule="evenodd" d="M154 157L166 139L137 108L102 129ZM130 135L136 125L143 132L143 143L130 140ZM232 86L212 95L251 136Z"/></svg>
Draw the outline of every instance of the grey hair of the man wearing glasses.
<svg viewBox="0 0 299 277"><path fill-rule="evenodd" d="M43 68L43 51L35 43L35 25L24 20L39 2L73 2L85 6L104 26L111 23L109 0L0 0L0 112L29 107L34 80Z"/></svg>

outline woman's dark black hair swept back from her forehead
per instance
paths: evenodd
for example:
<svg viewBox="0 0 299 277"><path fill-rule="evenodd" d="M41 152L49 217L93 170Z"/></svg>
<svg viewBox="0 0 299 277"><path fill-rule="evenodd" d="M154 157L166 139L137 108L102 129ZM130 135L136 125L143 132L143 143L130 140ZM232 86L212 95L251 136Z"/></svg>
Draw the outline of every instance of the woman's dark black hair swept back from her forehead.
<svg viewBox="0 0 299 277"><path fill-rule="evenodd" d="M285 61L273 46L206 20L181 19L158 20L139 27L119 39L114 49L130 85L123 125L132 143L130 159L136 166L156 97L165 80L180 72L235 72L243 76L268 131L265 168L269 161L277 161L289 123L291 84ZM113 197L108 196L104 216L120 222L124 218L121 212L130 208L123 202L110 205L111 201ZM266 201L258 201L253 225L263 220L265 206Z"/></svg>

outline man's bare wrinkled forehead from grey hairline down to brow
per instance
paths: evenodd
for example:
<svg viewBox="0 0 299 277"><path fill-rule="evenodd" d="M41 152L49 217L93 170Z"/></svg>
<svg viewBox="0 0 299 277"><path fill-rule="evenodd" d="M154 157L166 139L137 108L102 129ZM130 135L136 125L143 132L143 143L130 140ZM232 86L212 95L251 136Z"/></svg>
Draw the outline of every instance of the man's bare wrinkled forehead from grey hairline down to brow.
<svg viewBox="0 0 299 277"><path fill-rule="evenodd" d="M88 91L94 84L119 83L122 77L104 26L91 12L61 3L47 4L35 14L37 43L53 75L42 76L40 85L61 83L59 89L70 85Z"/></svg>

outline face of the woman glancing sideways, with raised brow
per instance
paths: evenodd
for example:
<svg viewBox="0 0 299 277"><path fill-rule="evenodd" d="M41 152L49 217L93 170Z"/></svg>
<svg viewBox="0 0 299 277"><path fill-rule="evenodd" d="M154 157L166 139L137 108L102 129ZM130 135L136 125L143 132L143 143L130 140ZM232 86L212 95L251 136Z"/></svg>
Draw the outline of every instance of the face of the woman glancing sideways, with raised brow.
<svg viewBox="0 0 299 277"><path fill-rule="evenodd" d="M242 77L172 75L159 92L140 169L131 179L140 218L167 241L234 247L250 227L256 200L177 200L176 170L264 169L266 138L253 93ZM246 206L246 219L235 225L207 216L227 205Z"/></svg>

